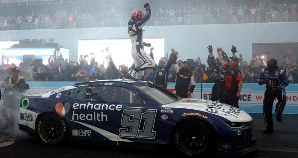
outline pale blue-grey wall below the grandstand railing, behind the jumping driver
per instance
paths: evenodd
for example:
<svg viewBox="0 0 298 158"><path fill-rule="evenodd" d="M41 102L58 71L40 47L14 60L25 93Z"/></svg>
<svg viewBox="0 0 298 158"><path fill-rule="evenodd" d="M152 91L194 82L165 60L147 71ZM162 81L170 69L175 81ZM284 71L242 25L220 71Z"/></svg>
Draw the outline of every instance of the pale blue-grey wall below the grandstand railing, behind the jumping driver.
<svg viewBox="0 0 298 158"><path fill-rule="evenodd" d="M242 53L243 59L248 61L252 58L252 43L298 42L298 22L150 26L144 27L144 30L143 35L146 38L165 38L165 52L175 48L179 51L180 59L200 57L204 63L207 63L208 45L213 45L215 49L220 46L228 55L232 54L230 49L235 45L238 53ZM70 59L77 60L79 39L116 39L129 36L126 27L0 31L0 41L33 38L54 38L55 42L70 50Z"/></svg>

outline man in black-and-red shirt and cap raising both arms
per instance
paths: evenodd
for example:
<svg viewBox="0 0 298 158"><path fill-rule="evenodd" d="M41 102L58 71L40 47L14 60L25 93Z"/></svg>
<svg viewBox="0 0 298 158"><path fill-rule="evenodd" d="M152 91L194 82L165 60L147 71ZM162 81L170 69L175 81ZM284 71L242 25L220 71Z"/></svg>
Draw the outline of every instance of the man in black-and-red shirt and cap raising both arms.
<svg viewBox="0 0 298 158"><path fill-rule="evenodd" d="M235 49L233 51L233 49ZM218 53L218 61L224 69L227 70L227 76L226 76L226 89L224 90L224 96L222 103L232 105L236 108L239 108L238 101L241 97L241 88L242 88L242 76L240 70L237 68L239 64L239 60L237 57L230 57L230 62L225 62L222 55L220 54L220 51L222 51L221 48L217 48ZM232 46L232 52L233 54L236 53L236 47Z"/></svg>

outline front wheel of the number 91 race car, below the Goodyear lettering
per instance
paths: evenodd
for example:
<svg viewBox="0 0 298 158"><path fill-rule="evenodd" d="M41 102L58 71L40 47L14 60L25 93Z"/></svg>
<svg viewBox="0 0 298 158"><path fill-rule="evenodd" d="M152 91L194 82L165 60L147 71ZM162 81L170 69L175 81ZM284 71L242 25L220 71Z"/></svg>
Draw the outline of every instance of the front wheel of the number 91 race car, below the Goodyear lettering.
<svg viewBox="0 0 298 158"><path fill-rule="evenodd" d="M214 145L212 129L199 120L185 121L174 131L174 145L182 154L195 157Z"/></svg>

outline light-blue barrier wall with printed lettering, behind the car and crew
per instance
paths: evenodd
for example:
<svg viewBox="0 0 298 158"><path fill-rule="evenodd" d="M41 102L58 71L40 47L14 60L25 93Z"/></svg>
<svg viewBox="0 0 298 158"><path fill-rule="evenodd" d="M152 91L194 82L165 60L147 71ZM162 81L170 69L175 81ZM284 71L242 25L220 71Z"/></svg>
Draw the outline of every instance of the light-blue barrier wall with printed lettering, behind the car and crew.
<svg viewBox="0 0 298 158"><path fill-rule="evenodd" d="M58 89L64 86L74 85L77 82L27 82L30 86L30 90L27 93L34 93L37 91L49 92L54 89ZM202 99L210 99L213 83L202 84ZM168 89L173 91L175 83L168 83ZM262 106L264 100L264 92L266 86L259 86L258 84L243 84L241 94L242 97L239 100L239 106L242 110L249 113L262 113ZM287 104L284 113L298 114L298 84L290 84L286 87L287 92ZM201 83L196 83L196 88L192 93L192 98L201 99ZM273 103L273 110L275 104ZM2 105L2 100L0 101Z"/></svg>

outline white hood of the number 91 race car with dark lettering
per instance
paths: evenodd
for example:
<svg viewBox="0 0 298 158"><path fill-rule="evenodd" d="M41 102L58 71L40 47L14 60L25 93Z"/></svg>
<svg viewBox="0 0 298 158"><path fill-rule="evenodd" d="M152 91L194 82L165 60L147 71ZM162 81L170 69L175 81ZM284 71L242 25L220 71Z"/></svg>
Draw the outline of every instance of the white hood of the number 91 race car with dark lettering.
<svg viewBox="0 0 298 158"><path fill-rule="evenodd" d="M224 117L231 122L249 122L252 121L250 115L239 108L233 106L219 103L210 100L201 100L201 99L181 99L177 102L163 105L163 108L183 108L183 109L192 109L202 112L208 112L217 116Z"/></svg>

